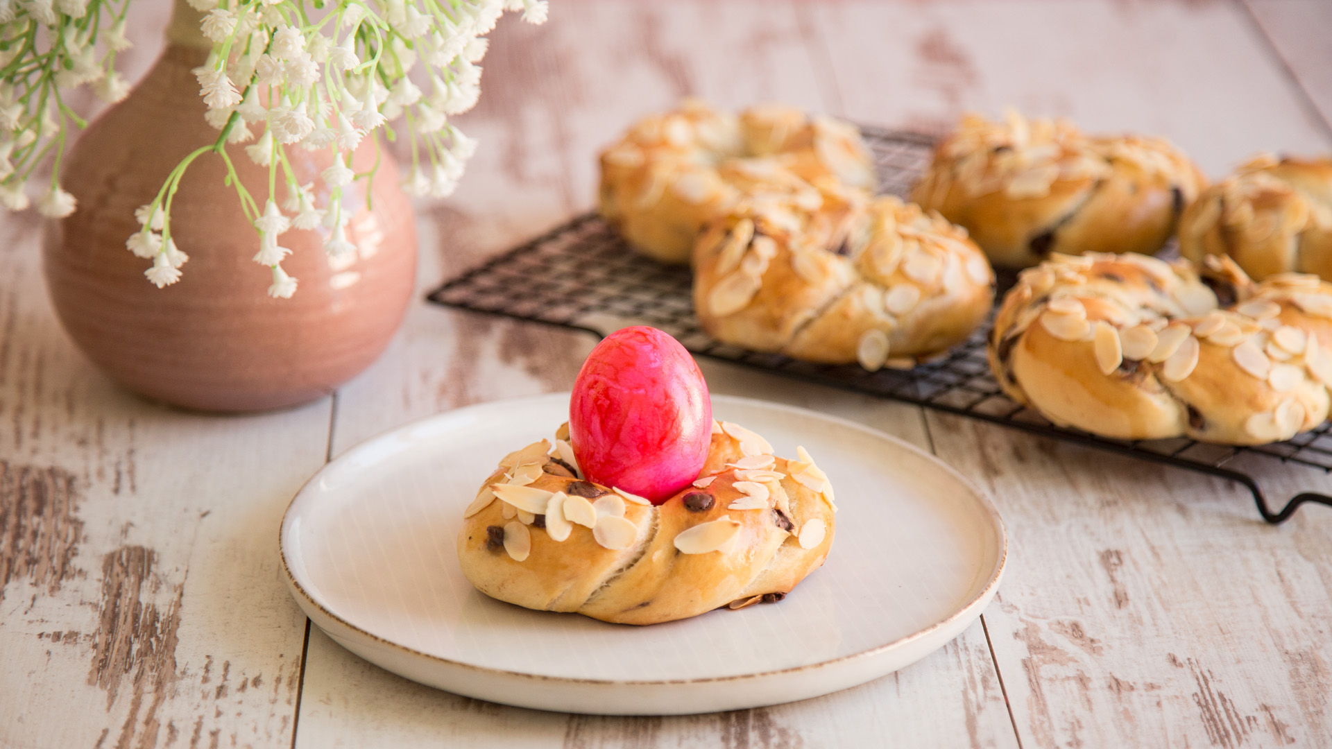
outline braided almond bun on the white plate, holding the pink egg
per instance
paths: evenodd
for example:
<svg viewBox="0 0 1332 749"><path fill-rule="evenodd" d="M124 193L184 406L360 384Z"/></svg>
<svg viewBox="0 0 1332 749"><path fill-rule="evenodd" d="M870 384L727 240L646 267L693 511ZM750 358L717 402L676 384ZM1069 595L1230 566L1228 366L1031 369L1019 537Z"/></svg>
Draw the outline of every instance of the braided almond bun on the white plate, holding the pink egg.
<svg viewBox="0 0 1332 749"><path fill-rule="evenodd" d="M658 624L781 601L832 545L832 486L743 426L713 425L693 486L653 506L585 481L567 426L500 461L458 533L482 593L537 610Z"/></svg>

